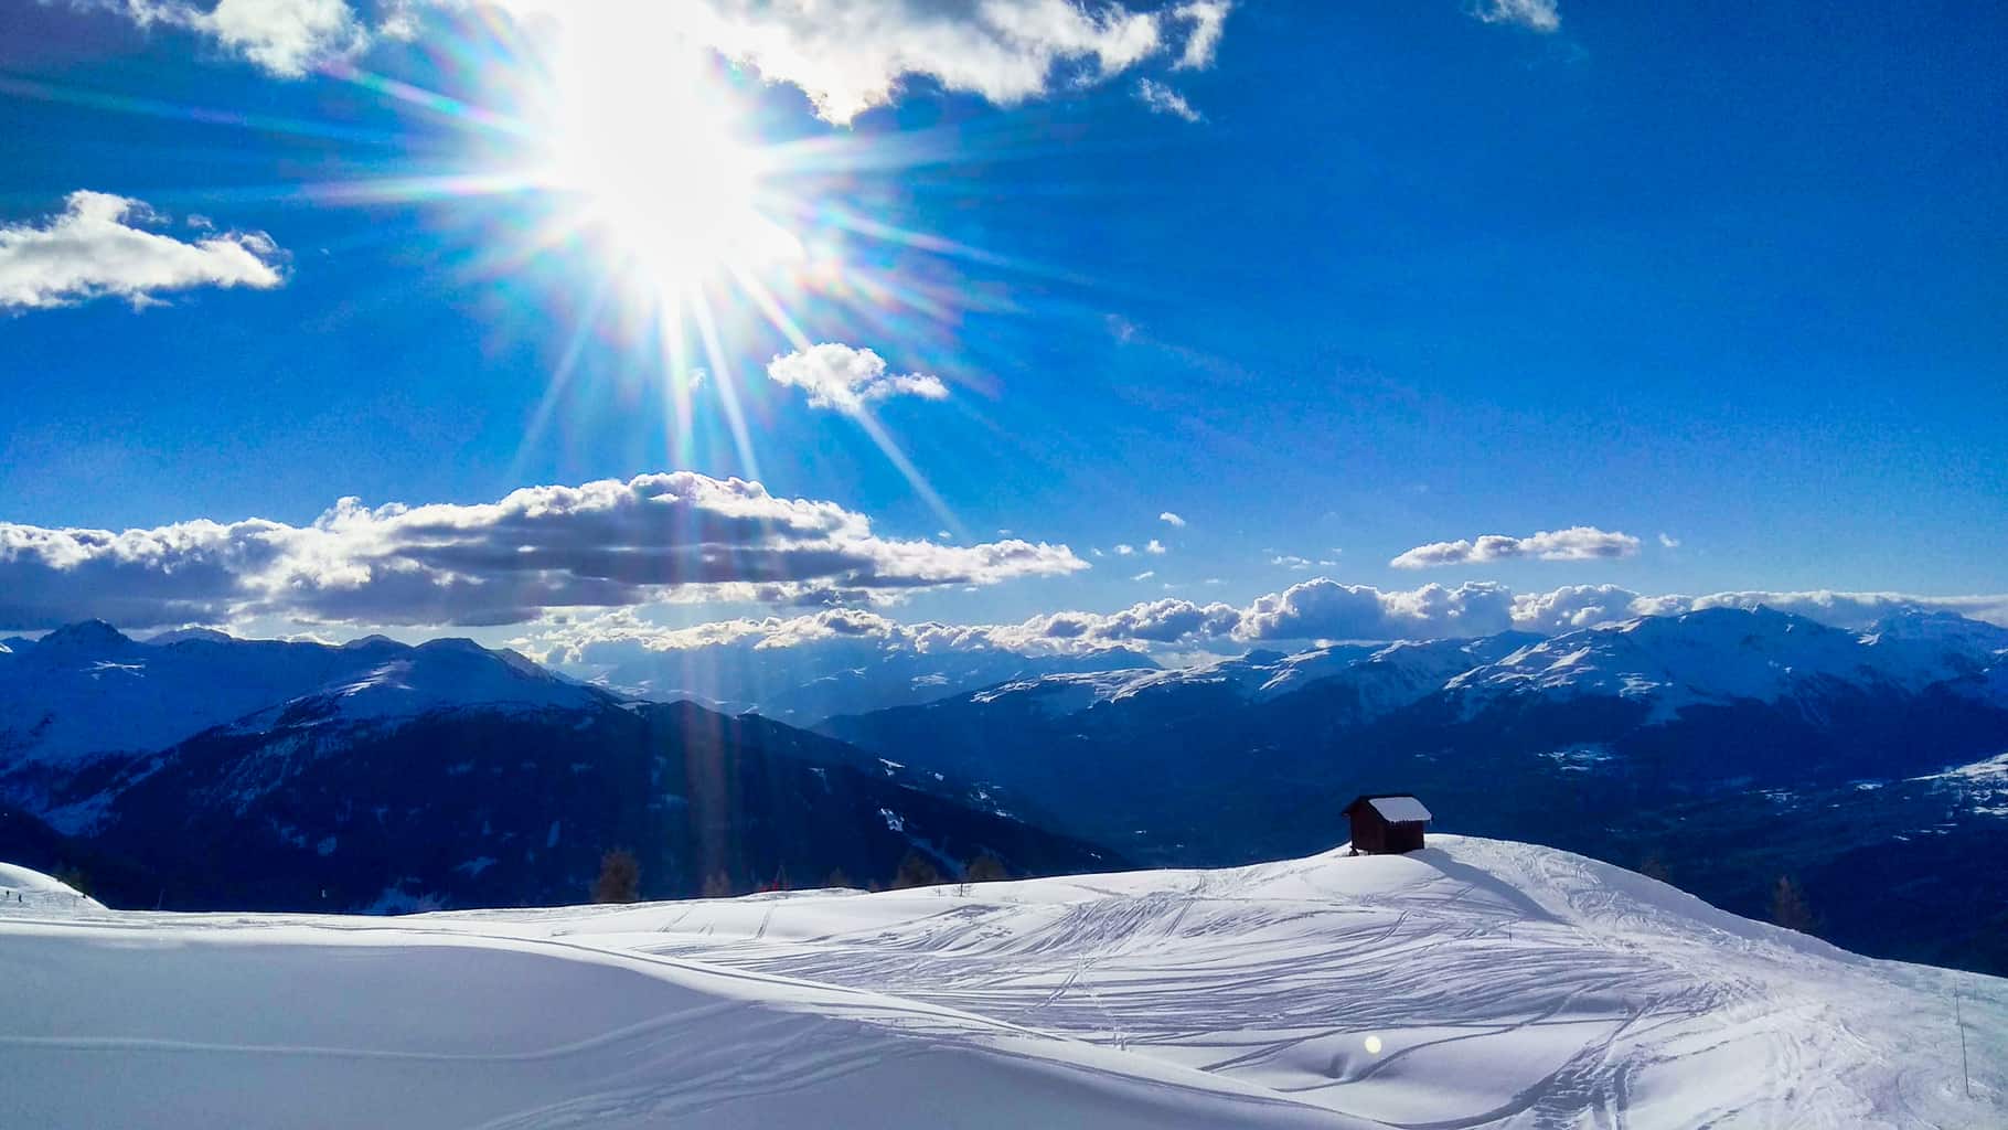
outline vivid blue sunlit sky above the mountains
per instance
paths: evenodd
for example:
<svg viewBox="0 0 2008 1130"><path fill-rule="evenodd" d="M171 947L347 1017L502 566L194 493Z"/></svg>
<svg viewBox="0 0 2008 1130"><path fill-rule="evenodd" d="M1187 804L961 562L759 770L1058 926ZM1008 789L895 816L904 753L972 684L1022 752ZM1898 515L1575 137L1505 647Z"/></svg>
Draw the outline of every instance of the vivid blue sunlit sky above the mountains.
<svg viewBox="0 0 2008 1130"><path fill-rule="evenodd" d="M478 508L677 470L835 504L906 564L747 576L785 592L651 574L560 604L592 570L558 554L566 584L458 622L536 636L610 608L695 624L845 606L1004 624L1151 600L1245 610L1315 576L1382 594L2008 592L1998 10L1022 0L1000 30L914 0L839 32L777 4L757 30L785 32L781 58L745 46L773 38L733 38L743 8L725 0L693 6L717 14L701 32L622 24L614 4L633 50L602 70L695 44L701 94L620 118L622 161L667 185L651 209L719 207L679 187L711 177L709 151L663 124L719 116L773 163L763 215L811 249L749 267L799 341L733 265L693 269L707 355L687 307L651 315L661 261L608 251L643 239L633 225L534 243L604 205L598 185L494 191L548 149L552 44L578 34L564 20L416 4L390 24L359 4L337 26L273 28L229 2L0 2L0 522L10 568L36 570L18 580L32 596L0 598L0 626L114 608L424 634L458 606L275 596L309 556L382 580L382 532L285 550L289 580L263 550L233 558L237 534L66 558L50 538L307 528L343 496ZM267 18L289 8L329 6ZM1155 20L1149 50L1124 18ZM620 90L669 98L651 74ZM875 76L894 80L884 96ZM837 104L859 90L882 104ZM48 235L76 191L143 201L151 219L116 223L209 241L213 261L137 283L145 265L114 259L159 245ZM64 275L62 255L86 265ZM679 331L701 375L669 371ZM843 369L861 373L853 395L908 373L946 395L910 381L817 407L769 375L803 343L847 349L805 381L841 359L863 365ZM651 536L685 536L671 526ZM1558 530L1576 534L1508 542ZM1488 534L1504 536L1492 552L1392 564ZM916 564L922 540L1072 560ZM191 596L203 570L221 588ZM309 584L353 584L329 576ZM167 604L110 600L135 578Z"/></svg>

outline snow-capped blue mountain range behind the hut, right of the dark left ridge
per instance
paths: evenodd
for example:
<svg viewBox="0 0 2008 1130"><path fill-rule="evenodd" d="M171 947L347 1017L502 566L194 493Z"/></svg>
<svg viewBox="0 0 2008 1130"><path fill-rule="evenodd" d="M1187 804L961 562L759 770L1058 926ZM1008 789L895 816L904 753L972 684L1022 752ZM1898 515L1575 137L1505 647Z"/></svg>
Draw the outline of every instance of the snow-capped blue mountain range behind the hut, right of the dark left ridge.
<svg viewBox="0 0 2008 1130"><path fill-rule="evenodd" d="M2008 630L1950 614L1255 652L817 729L1153 863L1301 855L1349 797L1416 791L1438 827L1651 863L1739 913L1787 877L1849 947L2008 967L2008 877L1974 865L2008 847Z"/></svg>

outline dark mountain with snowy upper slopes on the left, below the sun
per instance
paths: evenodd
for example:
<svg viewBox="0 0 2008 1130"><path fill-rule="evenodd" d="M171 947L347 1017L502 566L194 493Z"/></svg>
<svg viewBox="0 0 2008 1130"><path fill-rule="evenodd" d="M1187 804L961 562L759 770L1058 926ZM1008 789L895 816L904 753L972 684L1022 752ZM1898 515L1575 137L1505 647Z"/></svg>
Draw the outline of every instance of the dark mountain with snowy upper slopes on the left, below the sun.
<svg viewBox="0 0 2008 1130"><path fill-rule="evenodd" d="M468 640L347 646L106 624L0 660L0 851L179 907L520 905L584 891L890 883L1118 855L968 791L757 717L631 702ZM151 891L151 893L149 893Z"/></svg>

